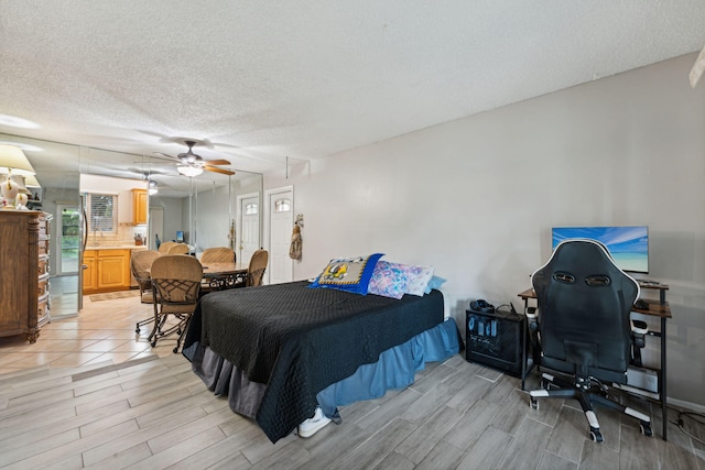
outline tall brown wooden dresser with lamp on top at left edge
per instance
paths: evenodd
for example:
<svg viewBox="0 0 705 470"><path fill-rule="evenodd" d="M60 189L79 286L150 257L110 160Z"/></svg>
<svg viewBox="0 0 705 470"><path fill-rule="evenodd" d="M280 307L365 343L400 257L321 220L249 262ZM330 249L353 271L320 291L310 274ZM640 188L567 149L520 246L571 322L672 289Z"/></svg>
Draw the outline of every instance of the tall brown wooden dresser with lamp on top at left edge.
<svg viewBox="0 0 705 470"><path fill-rule="evenodd" d="M50 316L52 216L0 210L0 336L26 335L35 342Z"/></svg>

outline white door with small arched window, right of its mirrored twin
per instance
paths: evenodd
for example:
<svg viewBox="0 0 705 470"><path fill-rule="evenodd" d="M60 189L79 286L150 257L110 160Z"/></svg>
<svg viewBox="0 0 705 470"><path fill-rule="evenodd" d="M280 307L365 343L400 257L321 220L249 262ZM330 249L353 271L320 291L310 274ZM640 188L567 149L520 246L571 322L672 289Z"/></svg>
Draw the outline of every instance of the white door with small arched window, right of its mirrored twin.
<svg viewBox="0 0 705 470"><path fill-rule="evenodd" d="M268 192L269 284L291 282L294 262L289 258L294 228L294 192L292 188Z"/></svg>

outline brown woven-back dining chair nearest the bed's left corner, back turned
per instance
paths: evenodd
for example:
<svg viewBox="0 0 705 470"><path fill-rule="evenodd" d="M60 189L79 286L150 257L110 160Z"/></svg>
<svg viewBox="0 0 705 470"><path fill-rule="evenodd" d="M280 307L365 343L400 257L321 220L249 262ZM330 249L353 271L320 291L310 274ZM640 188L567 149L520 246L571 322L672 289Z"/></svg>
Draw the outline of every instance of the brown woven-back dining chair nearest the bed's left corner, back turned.
<svg viewBox="0 0 705 470"><path fill-rule="evenodd" d="M154 327L148 341L155 347L159 339L177 334L174 352L178 352L198 302L203 266L195 256L165 254L154 260L150 273L154 296ZM175 324L167 324L170 316L174 317Z"/></svg>

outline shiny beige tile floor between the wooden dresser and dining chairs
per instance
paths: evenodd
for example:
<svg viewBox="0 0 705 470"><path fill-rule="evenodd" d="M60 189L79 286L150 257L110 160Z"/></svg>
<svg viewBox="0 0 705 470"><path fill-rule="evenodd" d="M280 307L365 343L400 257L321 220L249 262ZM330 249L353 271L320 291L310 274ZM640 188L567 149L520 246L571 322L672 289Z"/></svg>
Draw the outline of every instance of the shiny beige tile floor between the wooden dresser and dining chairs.
<svg viewBox="0 0 705 470"><path fill-rule="evenodd" d="M56 284L52 280L52 288ZM152 305L141 304L139 296L100 302L84 296L80 315L65 315L72 311L70 305L76 305L76 297L69 297L56 296L52 300L52 321L42 328L35 343L29 343L22 335L0 337L0 374L31 368L75 368L173 354L176 336L164 338L152 348L147 341L151 325L135 334L135 323L153 315Z"/></svg>

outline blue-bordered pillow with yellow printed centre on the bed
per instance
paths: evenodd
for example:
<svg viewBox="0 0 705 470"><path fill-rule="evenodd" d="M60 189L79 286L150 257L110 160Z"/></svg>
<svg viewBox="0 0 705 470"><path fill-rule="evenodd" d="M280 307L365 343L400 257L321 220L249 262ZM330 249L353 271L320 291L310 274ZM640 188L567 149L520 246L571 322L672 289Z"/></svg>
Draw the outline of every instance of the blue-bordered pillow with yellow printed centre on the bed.
<svg viewBox="0 0 705 470"><path fill-rule="evenodd" d="M330 260L308 287L337 288L366 295L375 266L383 253L369 256L336 258Z"/></svg>

